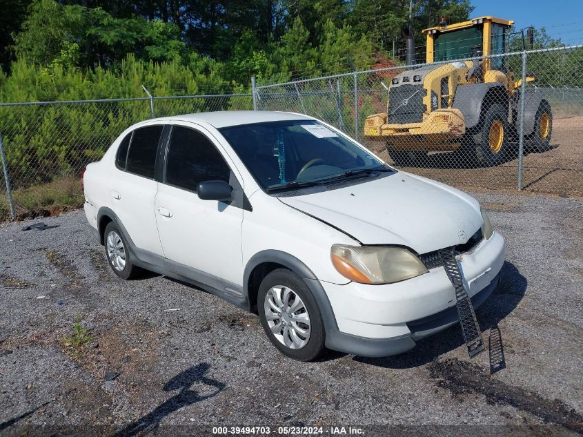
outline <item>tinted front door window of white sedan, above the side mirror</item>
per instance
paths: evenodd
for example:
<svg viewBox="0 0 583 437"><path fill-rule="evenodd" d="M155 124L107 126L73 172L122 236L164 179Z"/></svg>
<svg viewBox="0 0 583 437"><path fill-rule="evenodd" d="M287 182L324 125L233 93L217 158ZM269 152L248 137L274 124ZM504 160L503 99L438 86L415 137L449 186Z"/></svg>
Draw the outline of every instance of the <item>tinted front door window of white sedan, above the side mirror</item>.
<svg viewBox="0 0 583 437"><path fill-rule="evenodd" d="M196 191L199 182L229 182L230 168L215 145L197 130L174 126L166 160L166 183Z"/></svg>

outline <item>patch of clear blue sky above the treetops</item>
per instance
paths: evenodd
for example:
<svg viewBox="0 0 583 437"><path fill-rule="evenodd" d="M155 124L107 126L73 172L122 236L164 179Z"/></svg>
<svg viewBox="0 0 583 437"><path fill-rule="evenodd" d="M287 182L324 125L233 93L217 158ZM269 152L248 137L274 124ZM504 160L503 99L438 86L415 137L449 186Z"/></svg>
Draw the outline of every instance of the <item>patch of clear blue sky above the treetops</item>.
<svg viewBox="0 0 583 437"><path fill-rule="evenodd" d="M544 26L567 45L583 43L583 0L472 0L471 17L490 15L515 21L517 29Z"/></svg>

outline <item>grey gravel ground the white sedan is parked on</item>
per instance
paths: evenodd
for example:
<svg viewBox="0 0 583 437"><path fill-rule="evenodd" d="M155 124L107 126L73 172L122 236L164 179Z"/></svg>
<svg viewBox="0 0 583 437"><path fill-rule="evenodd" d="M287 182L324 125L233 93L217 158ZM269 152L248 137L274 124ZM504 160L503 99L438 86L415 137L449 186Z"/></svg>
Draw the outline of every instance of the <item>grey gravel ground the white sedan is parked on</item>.
<svg viewBox="0 0 583 437"><path fill-rule="evenodd" d="M46 231L0 227L0 433L583 433L583 202L474 194L508 245L477 311L486 343L501 335L492 369L487 352L468 358L457 326L402 356L294 362L255 315L213 295L153 274L117 278L82 211L43 219Z"/></svg>

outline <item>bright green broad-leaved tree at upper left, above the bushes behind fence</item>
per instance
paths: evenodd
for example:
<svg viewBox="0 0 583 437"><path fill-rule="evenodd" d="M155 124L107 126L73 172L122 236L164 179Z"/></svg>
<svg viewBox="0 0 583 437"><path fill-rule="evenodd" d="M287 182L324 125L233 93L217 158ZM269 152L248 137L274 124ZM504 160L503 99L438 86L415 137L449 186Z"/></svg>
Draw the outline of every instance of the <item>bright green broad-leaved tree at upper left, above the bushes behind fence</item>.
<svg viewBox="0 0 583 437"><path fill-rule="evenodd" d="M144 60L175 59L184 55L180 37L175 24L159 19L115 18L101 8L36 0L15 37L15 48L18 57L33 64L48 66L67 56L83 68L95 68L114 65L128 53Z"/></svg>

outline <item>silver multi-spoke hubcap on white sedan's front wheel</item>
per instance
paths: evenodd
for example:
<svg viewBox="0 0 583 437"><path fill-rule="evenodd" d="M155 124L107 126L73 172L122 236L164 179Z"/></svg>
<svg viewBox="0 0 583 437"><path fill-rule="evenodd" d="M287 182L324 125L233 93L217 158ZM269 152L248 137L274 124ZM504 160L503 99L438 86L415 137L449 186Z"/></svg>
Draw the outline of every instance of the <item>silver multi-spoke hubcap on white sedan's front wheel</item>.
<svg viewBox="0 0 583 437"><path fill-rule="evenodd" d="M310 340L310 315L292 289L284 285L271 287L265 296L265 317L277 340L290 349L302 349Z"/></svg>

